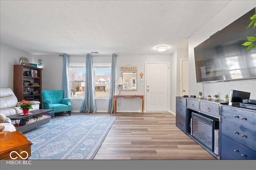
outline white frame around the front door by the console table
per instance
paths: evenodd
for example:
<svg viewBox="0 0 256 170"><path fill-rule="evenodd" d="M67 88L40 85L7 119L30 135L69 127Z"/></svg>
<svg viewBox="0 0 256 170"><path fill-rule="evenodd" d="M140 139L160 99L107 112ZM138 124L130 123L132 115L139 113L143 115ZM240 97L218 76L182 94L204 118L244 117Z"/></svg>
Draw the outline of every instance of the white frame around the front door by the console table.
<svg viewBox="0 0 256 170"><path fill-rule="evenodd" d="M146 76L147 76L147 64L168 64L168 101L167 101L167 103L168 103L168 111L146 111L147 110L147 78L146 78ZM144 106L145 106L145 112L148 112L148 113L153 113L153 112L155 112L155 113L161 113L161 112L170 112L170 62L145 62L145 86L144 86L144 89L145 89L145 91L144 91L144 94L145 94L145 104L144 104Z"/></svg>

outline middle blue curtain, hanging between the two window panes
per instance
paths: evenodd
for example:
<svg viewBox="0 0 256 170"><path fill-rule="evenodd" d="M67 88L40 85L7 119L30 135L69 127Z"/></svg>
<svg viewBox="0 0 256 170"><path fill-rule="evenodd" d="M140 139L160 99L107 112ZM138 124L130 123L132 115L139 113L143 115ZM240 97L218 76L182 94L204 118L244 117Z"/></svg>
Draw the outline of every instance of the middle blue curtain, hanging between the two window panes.
<svg viewBox="0 0 256 170"><path fill-rule="evenodd" d="M86 77L84 87L84 98L80 108L83 113L96 113L95 87L93 76L92 56L86 55Z"/></svg>

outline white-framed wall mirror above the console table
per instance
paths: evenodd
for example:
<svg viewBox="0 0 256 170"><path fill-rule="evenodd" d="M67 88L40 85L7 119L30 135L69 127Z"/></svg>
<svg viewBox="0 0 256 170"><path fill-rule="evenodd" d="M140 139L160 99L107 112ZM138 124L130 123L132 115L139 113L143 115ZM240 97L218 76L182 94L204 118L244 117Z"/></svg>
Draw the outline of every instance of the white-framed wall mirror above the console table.
<svg viewBox="0 0 256 170"><path fill-rule="evenodd" d="M123 90L137 90L137 72L122 72Z"/></svg>

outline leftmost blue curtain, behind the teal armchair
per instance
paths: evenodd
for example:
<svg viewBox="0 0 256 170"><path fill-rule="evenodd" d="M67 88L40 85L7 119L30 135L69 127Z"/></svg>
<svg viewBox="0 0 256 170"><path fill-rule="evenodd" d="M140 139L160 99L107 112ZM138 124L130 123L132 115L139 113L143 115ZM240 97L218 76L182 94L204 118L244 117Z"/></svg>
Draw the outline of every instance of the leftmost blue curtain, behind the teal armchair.
<svg viewBox="0 0 256 170"><path fill-rule="evenodd" d="M69 81L69 55L63 55L63 70L62 70L62 90L64 90L64 98L70 98L70 81Z"/></svg>

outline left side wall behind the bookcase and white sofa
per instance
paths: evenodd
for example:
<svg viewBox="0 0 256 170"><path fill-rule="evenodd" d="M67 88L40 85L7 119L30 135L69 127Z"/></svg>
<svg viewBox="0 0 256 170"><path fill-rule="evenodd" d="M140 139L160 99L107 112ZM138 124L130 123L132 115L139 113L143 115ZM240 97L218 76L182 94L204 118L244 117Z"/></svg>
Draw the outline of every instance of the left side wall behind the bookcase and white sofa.
<svg viewBox="0 0 256 170"><path fill-rule="evenodd" d="M2 43L0 49L0 87L13 90L13 65L20 64L22 57L26 57L29 63L34 63L34 55Z"/></svg>

